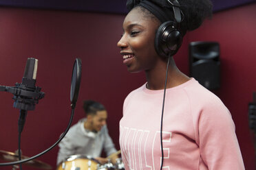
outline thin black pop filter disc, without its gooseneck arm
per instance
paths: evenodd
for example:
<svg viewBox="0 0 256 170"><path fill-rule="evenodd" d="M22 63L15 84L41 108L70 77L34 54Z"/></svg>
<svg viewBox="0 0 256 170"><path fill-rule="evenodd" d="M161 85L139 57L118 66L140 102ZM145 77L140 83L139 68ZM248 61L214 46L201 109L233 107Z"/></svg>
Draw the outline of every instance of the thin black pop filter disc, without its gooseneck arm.
<svg viewBox="0 0 256 170"><path fill-rule="evenodd" d="M81 59L76 58L73 66L71 88L70 88L70 101L72 103L72 106L76 106L76 101L77 101L78 93L80 90L81 69L82 69Z"/></svg>

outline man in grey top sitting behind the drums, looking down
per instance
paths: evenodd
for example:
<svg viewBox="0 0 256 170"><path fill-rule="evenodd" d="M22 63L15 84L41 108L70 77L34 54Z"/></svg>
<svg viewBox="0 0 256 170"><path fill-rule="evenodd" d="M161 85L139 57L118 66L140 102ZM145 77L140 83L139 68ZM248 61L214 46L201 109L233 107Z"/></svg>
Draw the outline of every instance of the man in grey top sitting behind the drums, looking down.
<svg viewBox="0 0 256 170"><path fill-rule="evenodd" d="M108 159L100 155L105 150L107 156L111 155L111 162L116 163L118 158L114 143L107 130L107 110L97 101L83 102L86 117L70 127L69 132L58 144L57 165L72 155L85 155L105 164Z"/></svg>

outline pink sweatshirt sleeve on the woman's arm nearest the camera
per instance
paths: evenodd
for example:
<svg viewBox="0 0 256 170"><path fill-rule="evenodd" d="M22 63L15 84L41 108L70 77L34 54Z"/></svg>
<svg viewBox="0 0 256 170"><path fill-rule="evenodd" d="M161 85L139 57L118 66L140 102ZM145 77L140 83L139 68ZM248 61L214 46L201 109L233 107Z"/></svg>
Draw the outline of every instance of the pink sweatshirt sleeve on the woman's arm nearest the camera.
<svg viewBox="0 0 256 170"><path fill-rule="evenodd" d="M235 125L222 101L206 104L198 117L198 143L202 161L209 170L243 170Z"/></svg>

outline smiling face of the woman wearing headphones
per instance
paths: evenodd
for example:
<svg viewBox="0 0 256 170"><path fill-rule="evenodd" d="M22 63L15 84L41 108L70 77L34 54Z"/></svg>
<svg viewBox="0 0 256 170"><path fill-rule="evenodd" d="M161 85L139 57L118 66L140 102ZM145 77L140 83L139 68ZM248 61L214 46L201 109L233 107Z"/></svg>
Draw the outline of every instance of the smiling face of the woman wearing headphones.
<svg viewBox="0 0 256 170"><path fill-rule="evenodd" d="M151 70L159 57L155 51L154 39L159 22L134 8L127 14L122 25L123 34L118 42L123 63L131 73Z"/></svg>

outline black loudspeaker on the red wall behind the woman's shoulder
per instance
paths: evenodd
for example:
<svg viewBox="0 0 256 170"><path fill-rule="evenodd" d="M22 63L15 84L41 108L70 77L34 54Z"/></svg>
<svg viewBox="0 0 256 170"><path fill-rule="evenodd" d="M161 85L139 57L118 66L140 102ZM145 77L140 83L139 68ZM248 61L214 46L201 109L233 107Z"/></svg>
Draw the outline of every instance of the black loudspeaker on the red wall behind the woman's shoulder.
<svg viewBox="0 0 256 170"><path fill-rule="evenodd" d="M220 45L218 42L189 44L190 76L209 90L220 88Z"/></svg>

